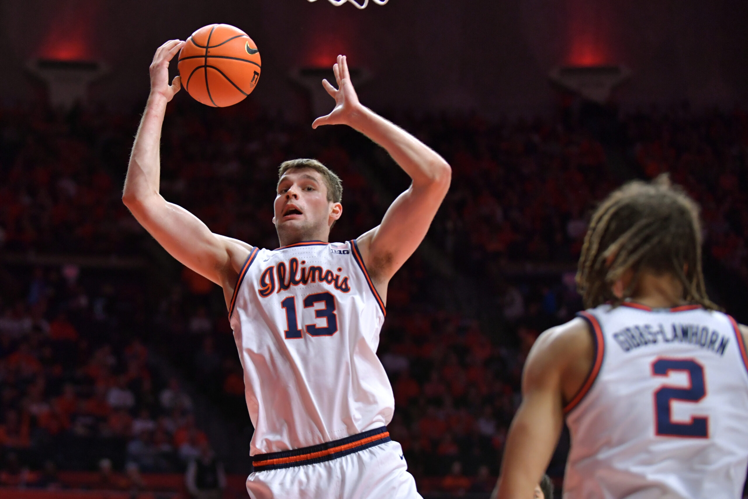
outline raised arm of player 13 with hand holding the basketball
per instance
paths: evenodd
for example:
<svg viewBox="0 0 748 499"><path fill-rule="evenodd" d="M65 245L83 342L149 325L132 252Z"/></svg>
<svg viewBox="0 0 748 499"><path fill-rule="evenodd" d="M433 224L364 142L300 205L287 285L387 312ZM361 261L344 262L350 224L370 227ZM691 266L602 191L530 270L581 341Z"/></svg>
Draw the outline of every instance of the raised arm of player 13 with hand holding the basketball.
<svg viewBox="0 0 748 499"><path fill-rule="evenodd" d="M153 56L150 96L132 147L122 200L171 256L223 287L228 300L249 249L213 234L196 216L159 193L162 123L167 103L180 90L179 76L169 85L169 61L183 43L168 41Z"/></svg>

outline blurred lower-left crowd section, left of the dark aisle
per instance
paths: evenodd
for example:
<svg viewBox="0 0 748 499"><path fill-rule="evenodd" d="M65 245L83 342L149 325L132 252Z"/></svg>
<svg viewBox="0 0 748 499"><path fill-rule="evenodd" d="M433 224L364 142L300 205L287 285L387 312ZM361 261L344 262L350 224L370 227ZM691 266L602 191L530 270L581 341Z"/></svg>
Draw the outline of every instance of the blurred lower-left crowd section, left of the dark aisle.
<svg viewBox="0 0 748 499"><path fill-rule="evenodd" d="M191 397L140 339L136 282L86 281L70 265L0 274L0 485L46 486L58 468L178 472L212 452Z"/></svg>

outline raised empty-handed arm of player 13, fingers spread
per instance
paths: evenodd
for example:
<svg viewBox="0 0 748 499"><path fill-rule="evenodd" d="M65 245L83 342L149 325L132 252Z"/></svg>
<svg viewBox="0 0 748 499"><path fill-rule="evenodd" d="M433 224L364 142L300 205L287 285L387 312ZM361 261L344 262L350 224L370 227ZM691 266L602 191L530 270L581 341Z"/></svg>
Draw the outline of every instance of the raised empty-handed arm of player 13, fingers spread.
<svg viewBox="0 0 748 499"><path fill-rule="evenodd" d="M452 170L426 144L358 102L345 56L338 56L333 70L338 88L327 80L322 85L334 97L335 108L327 116L317 118L312 126L351 126L384 147L413 180L387 209L381 224L358 239L361 256L384 296L387 282L426 236L450 188Z"/></svg>

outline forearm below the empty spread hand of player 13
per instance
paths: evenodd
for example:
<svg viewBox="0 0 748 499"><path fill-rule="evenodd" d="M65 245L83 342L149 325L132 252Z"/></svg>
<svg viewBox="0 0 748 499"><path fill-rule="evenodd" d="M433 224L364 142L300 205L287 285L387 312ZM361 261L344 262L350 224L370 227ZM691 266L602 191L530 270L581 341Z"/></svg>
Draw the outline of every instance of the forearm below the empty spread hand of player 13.
<svg viewBox="0 0 748 499"><path fill-rule="evenodd" d="M361 106L351 126L375 141L405 170L414 186L449 186L452 169L430 147L369 108Z"/></svg>

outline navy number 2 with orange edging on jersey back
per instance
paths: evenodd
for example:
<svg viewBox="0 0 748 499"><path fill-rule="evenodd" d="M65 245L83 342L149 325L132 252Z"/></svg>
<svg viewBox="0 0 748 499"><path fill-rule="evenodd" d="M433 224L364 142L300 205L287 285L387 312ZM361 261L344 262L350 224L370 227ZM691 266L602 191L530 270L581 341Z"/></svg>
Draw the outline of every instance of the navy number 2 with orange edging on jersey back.
<svg viewBox="0 0 748 499"><path fill-rule="evenodd" d="M654 426L659 436L681 438L708 438L708 418L691 417L690 423L675 423L672 420L671 402L699 402L706 397L704 367L690 358L658 358L652 363L652 376L669 376L670 371L681 371L688 375L690 387L661 386L654 392Z"/></svg>

